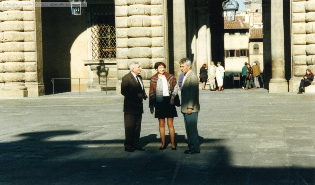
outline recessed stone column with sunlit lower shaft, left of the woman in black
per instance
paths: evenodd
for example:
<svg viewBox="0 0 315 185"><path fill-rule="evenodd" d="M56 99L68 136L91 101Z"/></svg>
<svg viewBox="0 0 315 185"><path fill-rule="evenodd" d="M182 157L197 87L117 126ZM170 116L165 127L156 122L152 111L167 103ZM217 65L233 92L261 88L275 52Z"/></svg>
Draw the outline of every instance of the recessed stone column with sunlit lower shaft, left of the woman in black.
<svg viewBox="0 0 315 185"><path fill-rule="evenodd" d="M197 73L203 64L208 65L207 25L207 11L198 10Z"/></svg>

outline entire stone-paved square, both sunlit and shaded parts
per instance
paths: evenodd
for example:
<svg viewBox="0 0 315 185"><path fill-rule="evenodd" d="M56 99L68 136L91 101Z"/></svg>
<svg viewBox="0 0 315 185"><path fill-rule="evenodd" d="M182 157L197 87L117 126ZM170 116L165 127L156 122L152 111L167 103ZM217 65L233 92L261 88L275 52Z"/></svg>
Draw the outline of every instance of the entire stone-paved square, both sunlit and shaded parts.
<svg viewBox="0 0 315 185"><path fill-rule="evenodd" d="M128 153L114 92L0 99L0 184L315 184L314 94L200 90L200 103L200 154L184 154L179 108L178 149L158 150L148 101L146 151Z"/></svg>

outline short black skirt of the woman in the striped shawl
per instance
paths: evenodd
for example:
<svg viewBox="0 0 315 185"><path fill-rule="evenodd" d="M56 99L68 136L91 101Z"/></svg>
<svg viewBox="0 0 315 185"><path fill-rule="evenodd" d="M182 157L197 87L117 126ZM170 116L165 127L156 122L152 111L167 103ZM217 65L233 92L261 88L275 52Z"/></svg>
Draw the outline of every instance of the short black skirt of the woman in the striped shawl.
<svg viewBox="0 0 315 185"><path fill-rule="evenodd" d="M175 104L171 106L171 97L164 96L162 102L156 102L154 118L174 118L177 117Z"/></svg>

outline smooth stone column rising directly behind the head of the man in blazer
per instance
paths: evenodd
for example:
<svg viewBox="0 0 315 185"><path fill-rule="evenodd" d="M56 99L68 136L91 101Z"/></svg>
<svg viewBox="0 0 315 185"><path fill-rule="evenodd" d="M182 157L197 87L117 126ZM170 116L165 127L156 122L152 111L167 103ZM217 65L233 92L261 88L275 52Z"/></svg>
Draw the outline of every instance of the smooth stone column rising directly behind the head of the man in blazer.
<svg viewBox="0 0 315 185"><path fill-rule="evenodd" d="M187 57L185 0L173 1L173 25L174 75L178 78L181 73L179 61L180 59Z"/></svg>

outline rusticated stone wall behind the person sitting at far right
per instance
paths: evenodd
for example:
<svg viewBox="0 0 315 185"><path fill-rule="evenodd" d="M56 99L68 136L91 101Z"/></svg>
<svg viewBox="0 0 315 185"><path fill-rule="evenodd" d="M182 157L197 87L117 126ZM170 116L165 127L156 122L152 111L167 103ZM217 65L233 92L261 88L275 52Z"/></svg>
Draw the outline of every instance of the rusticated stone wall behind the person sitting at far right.
<svg viewBox="0 0 315 185"><path fill-rule="evenodd" d="M297 92L306 69L315 71L315 0L292 0L292 91Z"/></svg>

